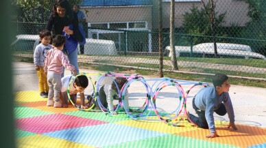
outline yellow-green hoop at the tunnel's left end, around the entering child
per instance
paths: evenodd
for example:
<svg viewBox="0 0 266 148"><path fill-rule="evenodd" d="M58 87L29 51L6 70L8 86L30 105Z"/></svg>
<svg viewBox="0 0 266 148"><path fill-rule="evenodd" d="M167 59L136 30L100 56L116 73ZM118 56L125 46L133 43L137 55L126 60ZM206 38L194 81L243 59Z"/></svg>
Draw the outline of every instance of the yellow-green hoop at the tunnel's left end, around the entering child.
<svg viewBox="0 0 266 148"><path fill-rule="evenodd" d="M96 96L96 86L95 86L95 82L97 82L97 80L99 79L99 77L100 77L102 74L104 74L104 73L98 73L98 74L89 74L89 73L88 73L88 74L87 74L87 73L85 73L85 72L81 72L81 73L78 74L77 76L82 76L82 75L84 75L84 76L87 76L87 77L88 77L88 79L90 80L90 82L93 84L93 93L94 93L94 95ZM93 108L93 106L95 106L95 104L93 104L92 106L90 106L90 108L82 109L82 108L80 108L79 106L77 106L76 104L74 104L74 103L72 102L72 100L71 100L71 97L70 97L70 94L69 94L69 89L70 89L70 85L71 85L71 83L73 82L73 80L75 80L75 78L77 78L77 76L73 76L73 78L71 78L71 80L69 80L69 86L68 86L67 89L66 89L67 97L69 98L69 101L71 102L71 104L72 104L73 106L75 106L76 108L78 108L79 110L85 110L85 111L91 110L91 109ZM95 82L93 82L93 78L91 78L90 76L97 76L97 79L95 80ZM84 98L84 100L85 100L85 98Z"/></svg>

